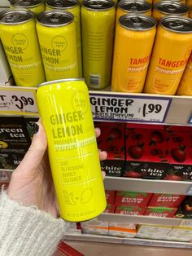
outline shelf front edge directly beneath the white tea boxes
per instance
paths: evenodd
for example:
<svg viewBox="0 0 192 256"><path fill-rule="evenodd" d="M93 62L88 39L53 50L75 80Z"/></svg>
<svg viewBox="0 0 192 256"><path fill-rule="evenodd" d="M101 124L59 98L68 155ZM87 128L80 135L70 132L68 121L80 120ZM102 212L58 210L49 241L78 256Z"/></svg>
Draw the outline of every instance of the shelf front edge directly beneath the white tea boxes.
<svg viewBox="0 0 192 256"><path fill-rule="evenodd" d="M104 184L108 190L192 195L192 182L185 181L106 177Z"/></svg>

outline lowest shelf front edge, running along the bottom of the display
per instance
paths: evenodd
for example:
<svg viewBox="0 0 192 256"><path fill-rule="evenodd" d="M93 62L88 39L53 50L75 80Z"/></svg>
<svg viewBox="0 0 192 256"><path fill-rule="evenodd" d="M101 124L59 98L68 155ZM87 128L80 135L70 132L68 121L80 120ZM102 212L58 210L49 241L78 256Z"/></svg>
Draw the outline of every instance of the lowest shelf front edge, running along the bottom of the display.
<svg viewBox="0 0 192 256"><path fill-rule="evenodd" d="M192 243L176 242L176 241L157 241L150 239L138 239L138 238L120 238L116 236L96 236L90 234L74 234L64 236L64 240L71 241L93 241L99 243L115 243L124 245L146 245L157 247L169 247L169 248L192 248Z"/></svg>

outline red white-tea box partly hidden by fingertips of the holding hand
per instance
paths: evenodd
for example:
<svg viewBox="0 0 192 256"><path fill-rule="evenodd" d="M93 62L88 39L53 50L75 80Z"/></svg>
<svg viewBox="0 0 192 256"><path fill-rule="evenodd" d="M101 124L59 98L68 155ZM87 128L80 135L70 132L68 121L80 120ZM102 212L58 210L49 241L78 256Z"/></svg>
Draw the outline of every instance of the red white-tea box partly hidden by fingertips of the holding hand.
<svg viewBox="0 0 192 256"><path fill-rule="evenodd" d="M107 176L120 177L124 172L124 124L115 122L95 122L101 129L98 148L107 151L107 160L101 162Z"/></svg>

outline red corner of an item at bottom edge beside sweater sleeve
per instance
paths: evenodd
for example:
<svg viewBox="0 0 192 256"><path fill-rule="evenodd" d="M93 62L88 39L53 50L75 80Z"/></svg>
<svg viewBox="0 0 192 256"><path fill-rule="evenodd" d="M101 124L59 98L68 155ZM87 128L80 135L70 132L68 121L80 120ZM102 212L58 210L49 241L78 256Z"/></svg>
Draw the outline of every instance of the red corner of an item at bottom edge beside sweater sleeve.
<svg viewBox="0 0 192 256"><path fill-rule="evenodd" d="M53 256L85 256L81 252L72 248L70 245L66 244L64 241L61 241L58 245L58 249L53 254Z"/></svg>

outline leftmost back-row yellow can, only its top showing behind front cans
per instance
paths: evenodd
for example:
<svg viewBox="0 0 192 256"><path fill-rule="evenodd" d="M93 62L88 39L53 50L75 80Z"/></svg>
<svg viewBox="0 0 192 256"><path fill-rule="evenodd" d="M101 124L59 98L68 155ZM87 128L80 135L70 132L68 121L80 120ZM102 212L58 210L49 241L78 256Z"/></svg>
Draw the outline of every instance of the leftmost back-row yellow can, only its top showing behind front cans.
<svg viewBox="0 0 192 256"><path fill-rule="evenodd" d="M11 9L25 8L33 11L34 15L45 11L46 8L43 0L10 0L10 7Z"/></svg>

